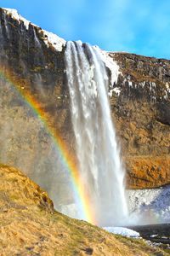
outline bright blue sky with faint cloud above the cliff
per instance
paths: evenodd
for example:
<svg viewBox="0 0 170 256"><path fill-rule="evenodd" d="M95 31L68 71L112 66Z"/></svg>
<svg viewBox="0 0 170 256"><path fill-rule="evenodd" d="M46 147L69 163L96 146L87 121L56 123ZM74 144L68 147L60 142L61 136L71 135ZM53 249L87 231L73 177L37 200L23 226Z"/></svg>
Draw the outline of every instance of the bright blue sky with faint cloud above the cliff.
<svg viewBox="0 0 170 256"><path fill-rule="evenodd" d="M170 59L170 0L0 0L65 40Z"/></svg>

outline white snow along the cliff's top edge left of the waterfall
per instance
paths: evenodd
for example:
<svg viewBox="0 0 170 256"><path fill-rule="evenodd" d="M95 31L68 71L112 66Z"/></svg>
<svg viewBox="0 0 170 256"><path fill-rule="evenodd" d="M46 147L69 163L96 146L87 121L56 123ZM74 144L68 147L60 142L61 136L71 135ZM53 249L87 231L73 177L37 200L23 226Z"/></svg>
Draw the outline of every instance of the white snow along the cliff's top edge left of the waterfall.
<svg viewBox="0 0 170 256"><path fill-rule="evenodd" d="M31 23L31 21L26 20L25 18L23 18L16 9L8 9L8 8L3 8L4 12L7 15L11 15L11 17L14 20L19 20L24 22L24 25L26 26L26 30L28 30L29 28L29 24L31 24L32 26L36 26L34 24ZM38 26L37 26L38 27ZM54 47L54 49L56 49L57 51L61 51L63 49L63 46L65 46L66 41L63 38L59 38L57 35L55 35L52 32L47 32L45 30L42 30L43 32L43 36L45 39L43 39L44 43L48 45L52 44L52 46Z"/></svg>

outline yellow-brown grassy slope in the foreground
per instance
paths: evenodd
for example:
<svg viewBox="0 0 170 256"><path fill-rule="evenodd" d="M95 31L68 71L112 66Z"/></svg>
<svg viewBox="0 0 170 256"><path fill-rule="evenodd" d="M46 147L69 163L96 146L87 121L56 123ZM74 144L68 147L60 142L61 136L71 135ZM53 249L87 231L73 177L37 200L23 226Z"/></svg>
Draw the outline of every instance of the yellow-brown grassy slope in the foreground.
<svg viewBox="0 0 170 256"><path fill-rule="evenodd" d="M0 255L166 255L55 212L46 192L0 166Z"/></svg>

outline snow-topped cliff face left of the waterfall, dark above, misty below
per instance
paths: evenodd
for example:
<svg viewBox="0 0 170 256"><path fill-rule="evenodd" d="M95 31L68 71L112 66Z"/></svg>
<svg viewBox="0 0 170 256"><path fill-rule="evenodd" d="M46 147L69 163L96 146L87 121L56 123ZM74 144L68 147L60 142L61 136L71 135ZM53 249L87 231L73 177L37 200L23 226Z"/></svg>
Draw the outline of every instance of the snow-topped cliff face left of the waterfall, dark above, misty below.
<svg viewBox="0 0 170 256"><path fill-rule="evenodd" d="M0 161L22 169L52 198L65 191L68 199L69 180L50 132L54 127L72 150L65 40L0 9L0 42Z"/></svg>

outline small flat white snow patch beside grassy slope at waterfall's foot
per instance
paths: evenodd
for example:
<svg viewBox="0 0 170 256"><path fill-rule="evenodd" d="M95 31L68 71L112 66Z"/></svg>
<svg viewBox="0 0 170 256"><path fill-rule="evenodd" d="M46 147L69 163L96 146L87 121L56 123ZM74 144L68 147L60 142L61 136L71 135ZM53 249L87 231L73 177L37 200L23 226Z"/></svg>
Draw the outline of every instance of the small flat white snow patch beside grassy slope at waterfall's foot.
<svg viewBox="0 0 170 256"><path fill-rule="evenodd" d="M127 228L122 227L105 227L104 230L107 230L110 233L116 234L116 235L122 235L127 237L140 237L139 232L136 232L134 230L130 230Z"/></svg>

